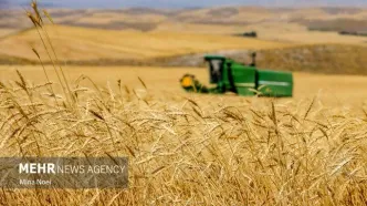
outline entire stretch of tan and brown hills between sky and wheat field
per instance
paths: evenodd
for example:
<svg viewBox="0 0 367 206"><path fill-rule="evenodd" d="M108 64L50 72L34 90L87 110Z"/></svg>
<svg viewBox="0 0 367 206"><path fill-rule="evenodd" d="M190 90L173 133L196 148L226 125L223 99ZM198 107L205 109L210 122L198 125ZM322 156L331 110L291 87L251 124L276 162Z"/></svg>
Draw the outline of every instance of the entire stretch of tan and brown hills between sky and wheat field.
<svg viewBox="0 0 367 206"><path fill-rule="evenodd" d="M50 63L38 32L24 29L30 27L25 17L20 11L0 13L0 63L38 63L32 48ZM198 66L208 52L234 54L241 61L256 50L263 68L367 74L367 37L336 32L363 32L365 9L51 9L50 13L56 25L46 31L59 59L69 64ZM258 39L234 35L244 31L256 31Z"/></svg>

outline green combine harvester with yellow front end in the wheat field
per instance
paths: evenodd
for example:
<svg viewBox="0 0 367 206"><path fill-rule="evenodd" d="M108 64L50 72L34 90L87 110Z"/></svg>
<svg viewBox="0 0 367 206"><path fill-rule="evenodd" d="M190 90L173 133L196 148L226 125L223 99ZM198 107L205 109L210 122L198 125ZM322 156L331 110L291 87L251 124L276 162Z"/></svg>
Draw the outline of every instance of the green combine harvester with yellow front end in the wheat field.
<svg viewBox="0 0 367 206"><path fill-rule="evenodd" d="M187 92L223 94L233 92L242 96L285 97L293 95L293 75L291 72L259 70L256 54L252 54L249 65L238 63L221 55L207 55L210 83L214 87L202 85L192 74L185 74L180 80Z"/></svg>

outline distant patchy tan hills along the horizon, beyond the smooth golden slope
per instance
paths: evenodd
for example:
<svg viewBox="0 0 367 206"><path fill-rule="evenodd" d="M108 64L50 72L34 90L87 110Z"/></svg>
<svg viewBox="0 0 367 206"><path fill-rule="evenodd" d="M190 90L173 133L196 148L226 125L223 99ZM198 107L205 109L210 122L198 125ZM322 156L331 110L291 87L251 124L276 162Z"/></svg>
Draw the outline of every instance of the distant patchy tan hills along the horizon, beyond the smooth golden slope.
<svg viewBox="0 0 367 206"><path fill-rule="evenodd" d="M270 41L367 45L367 38L338 34L339 31L367 32L367 9L359 8L127 8L50 9L49 12L57 24L91 29L227 35L256 31L260 39ZM25 18L20 10L1 10L0 37L1 33L9 33L9 29L32 27Z"/></svg>

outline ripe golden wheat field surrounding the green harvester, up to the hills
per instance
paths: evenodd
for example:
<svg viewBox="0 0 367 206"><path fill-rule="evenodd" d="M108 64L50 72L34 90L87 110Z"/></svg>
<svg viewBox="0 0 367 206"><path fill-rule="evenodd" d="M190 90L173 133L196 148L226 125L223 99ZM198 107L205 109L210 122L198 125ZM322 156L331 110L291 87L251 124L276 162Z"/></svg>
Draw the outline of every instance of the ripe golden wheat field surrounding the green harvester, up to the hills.
<svg viewBox="0 0 367 206"><path fill-rule="evenodd" d="M242 97L185 93L201 68L52 62L0 66L1 156L127 156L128 188L2 188L0 205L366 204L366 76L296 72L294 97Z"/></svg>

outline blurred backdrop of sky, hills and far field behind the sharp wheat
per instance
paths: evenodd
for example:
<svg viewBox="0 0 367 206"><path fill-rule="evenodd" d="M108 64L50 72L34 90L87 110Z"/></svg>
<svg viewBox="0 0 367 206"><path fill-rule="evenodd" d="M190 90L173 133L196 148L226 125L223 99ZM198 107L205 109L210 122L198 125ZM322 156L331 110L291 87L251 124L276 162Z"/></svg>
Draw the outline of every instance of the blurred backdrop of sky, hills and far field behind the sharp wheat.
<svg viewBox="0 0 367 206"><path fill-rule="evenodd" d="M24 10L31 1L1 0L2 80L22 71L43 81L36 50L51 65ZM208 80L202 56L221 54L260 69L292 71L295 96L326 91L335 102L364 101L367 85L367 2L364 0L39 0L43 28L71 79L81 73L158 91L181 91L186 72ZM42 9L51 16L51 21ZM52 24L53 22L54 24ZM51 45L48 45L51 47ZM149 73L150 72L150 73ZM36 74L36 75L35 75ZM124 74L124 75L123 75ZM366 83L365 83L366 82ZM139 85L138 81L135 81ZM170 85L170 86L167 86ZM350 97L353 96L353 97ZM334 97L333 97L334 99Z"/></svg>

